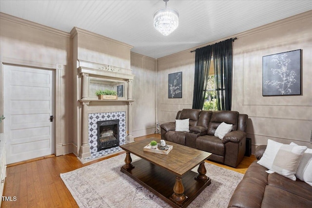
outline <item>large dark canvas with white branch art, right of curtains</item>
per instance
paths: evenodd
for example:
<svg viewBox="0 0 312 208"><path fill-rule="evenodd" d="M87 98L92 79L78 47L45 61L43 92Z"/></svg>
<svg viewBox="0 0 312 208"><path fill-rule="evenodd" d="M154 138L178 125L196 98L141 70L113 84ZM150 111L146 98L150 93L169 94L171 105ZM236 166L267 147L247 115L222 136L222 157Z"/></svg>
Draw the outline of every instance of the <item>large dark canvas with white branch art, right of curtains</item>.
<svg viewBox="0 0 312 208"><path fill-rule="evenodd" d="M262 57L262 95L301 95L301 49Z"/></svg>

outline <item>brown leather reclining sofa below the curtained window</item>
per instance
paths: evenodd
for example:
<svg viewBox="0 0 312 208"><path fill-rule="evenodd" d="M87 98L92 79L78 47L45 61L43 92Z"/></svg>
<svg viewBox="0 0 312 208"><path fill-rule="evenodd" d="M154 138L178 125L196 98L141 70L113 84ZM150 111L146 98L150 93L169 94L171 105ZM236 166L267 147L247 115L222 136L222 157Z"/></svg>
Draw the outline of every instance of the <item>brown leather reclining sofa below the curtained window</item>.
<svg viewBox="0 0 312 208"><path fill-rule="evenodd" d="M201 111L183 109L176 119L190 119L190 132L175 131L175 122L160 125L161 138L191 148L213 153L210 160L236 167L246 151L247 114L236 111ZM232 131L223 139L214 136L216 128L222 123L233 124Z"/></svg>

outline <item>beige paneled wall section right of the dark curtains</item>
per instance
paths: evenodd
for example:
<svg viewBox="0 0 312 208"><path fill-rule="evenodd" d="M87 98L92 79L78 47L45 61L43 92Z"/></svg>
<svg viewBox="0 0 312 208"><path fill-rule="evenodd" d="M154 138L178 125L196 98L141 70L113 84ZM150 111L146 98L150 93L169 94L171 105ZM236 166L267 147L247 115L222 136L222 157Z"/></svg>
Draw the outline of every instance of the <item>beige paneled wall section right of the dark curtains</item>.
<svg viewBox="0 0 312 208"><path fill-rule="evenodd" d="M262 96L262 57L301 49L302 95ZM233 109L249 115L252 144L312 147L312 12L248 31L234 42Z"/></svg>

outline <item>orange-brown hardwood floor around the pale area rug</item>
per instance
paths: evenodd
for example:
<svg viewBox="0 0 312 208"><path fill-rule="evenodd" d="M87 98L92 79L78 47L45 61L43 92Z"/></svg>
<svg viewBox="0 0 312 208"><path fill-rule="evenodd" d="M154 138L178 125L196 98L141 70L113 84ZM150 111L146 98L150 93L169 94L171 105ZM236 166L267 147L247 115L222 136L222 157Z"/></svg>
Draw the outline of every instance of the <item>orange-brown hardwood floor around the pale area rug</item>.
<svg viewBox="0 0 312 208"><path fill-rule="evenodd" d="M160 134L137 137L135 141L150 137L160 138ZM8 165L3 192L6 201L2 199L1 208L77 208L76 201L59 177L59 174L123 153L119 152L85 164L81 164L76 155L70 153L58 157L47 156ZM254 155L244 157L236 169L212 161L208 161L208 163L245 173L254 160ZM13 197L16 197L16 200Z"/></svg>

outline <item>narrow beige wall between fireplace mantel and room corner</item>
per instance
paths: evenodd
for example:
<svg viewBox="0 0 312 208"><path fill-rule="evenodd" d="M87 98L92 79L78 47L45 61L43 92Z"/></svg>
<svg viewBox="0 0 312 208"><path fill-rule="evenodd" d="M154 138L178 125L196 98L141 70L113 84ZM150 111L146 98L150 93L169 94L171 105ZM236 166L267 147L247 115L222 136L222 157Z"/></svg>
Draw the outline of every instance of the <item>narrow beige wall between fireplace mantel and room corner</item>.
<svg viewBox="0 0 312 208"><path fill-rule="evenodd" d="M131 53L133 81L133 135L135 137L156 131L156 59Z"/></svg>

